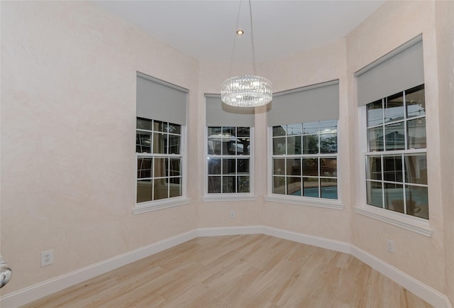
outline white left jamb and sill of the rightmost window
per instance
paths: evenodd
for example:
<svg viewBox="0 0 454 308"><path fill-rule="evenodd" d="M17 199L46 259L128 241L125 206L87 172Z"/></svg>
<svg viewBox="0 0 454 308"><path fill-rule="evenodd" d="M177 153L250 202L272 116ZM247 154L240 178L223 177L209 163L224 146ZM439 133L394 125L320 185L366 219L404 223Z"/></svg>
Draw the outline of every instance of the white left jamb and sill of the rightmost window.
<svg viewBox="0 0 454 308"><path fill-rule="evenodd" d="M360 167L358 168L357 175L357 187L360 187L359 196L357 196L358 205L353 207L353 211L356 214L367 216L378 221L398 226L402 229L419 233L423 236L431 237L433 229L430 228L428 219L422 219L416 216L410 216L407 214L390 211L389 209L382 209L380 207L374 207L373 205L366 204L366 167L365 167L365 155L369 153L367 151L367 131L366 131L366 106L358 107L358 119L360 124L359 144L360 144ZM421 151L419 151L421 152ZM380 154L380 152L377 152Z"/></svg>

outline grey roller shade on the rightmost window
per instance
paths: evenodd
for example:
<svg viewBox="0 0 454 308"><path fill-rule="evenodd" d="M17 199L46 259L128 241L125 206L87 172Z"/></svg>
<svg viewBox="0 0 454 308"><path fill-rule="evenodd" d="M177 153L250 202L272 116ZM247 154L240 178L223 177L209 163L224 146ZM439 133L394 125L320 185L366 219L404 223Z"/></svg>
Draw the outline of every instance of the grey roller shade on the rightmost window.
<svg viewBox="0 0 454 308"><path fill-rule="evenodd" d="M358 106L424 83L422 35L355 72Z"/></svg>

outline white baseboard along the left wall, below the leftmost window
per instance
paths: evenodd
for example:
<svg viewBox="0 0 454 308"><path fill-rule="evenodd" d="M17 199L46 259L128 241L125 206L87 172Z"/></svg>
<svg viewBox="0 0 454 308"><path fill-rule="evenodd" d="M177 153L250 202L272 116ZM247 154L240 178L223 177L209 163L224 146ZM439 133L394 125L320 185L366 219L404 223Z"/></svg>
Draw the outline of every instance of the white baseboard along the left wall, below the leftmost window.
<svg viewBox="0 0 454 308"><path fill-rule="evenodd" d="M50 280L45 280L36 285L32 285L2 296L0 299L0 307L16 308L23 306L24 304L35 301L36 299L51 295L52 293L66 289L67 287L71 287L79 282L83 282L111 270L115 270L116 268L120 268L123 265L148 257L149 255L165 251L167 248L177 246L196 237L197 231L192 230L171 238L166 238L165 240L158 241L148 246L135 249L134 251L117 255L114 258L94 263L85 268L74 270L74 272L67 273Z"/></svg>

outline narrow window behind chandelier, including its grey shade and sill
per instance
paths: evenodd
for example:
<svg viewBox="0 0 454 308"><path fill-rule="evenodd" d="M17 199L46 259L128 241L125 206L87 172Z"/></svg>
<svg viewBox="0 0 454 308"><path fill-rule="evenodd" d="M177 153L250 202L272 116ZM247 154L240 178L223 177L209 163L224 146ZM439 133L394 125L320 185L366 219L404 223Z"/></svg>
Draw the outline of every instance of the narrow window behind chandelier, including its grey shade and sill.
<svg viewBox="0 0 454 308"><path fill-rule="evenodd" d="M228 106L219 94L205 94L205 106L204 202L255 200L254 109Z"/></svg>

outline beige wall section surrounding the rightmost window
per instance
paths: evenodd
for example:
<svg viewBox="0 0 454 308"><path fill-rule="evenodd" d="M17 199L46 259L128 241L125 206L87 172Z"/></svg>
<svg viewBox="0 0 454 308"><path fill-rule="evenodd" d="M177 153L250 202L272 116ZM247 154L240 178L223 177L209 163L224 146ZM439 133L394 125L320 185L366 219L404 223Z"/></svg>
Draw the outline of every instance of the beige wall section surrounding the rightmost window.
<svg viewBox="0 0 454 308"><path fill-rule="evenodd" d="M353 244L393 265L404 273L431 287L445 292L445 254L443 250L443 211L441 199L440 127L438 126L438 75L435 41L435 5L431 1L389 1L347 36L347 67L349 84L350 168L358 175L351 186L353 202L362 205L360 187L362 174L357 163L362 161L358 144L358 111L355 110L355 78L353 73L389 53L406 41L423 34L424 79L426 89L426 132L428 157L428 194L430 227L428 238L380 221L353 214ZM355 182L353 182L355 183ZM395 253L386 250L386 239L394 241Z"/></svg>

